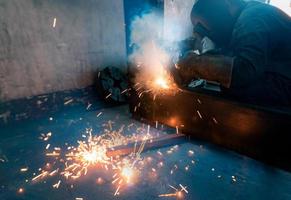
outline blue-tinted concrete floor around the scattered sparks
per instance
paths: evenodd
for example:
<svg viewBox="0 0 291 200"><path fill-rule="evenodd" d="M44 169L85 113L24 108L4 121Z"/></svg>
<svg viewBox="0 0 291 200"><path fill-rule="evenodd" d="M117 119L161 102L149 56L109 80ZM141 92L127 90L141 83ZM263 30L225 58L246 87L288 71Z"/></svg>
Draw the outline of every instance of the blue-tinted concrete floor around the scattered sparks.
<svg viewBox="0 0 291 200"><path fill-rule="evenodd" d="M103 114L97 118L99 112ZM139 181L122 189L119 196L113 196L116 188L112 180L106 178L108 175L99 172L89 172L75 182L62 179L58 189L52 184L61 179L60 176L31 182L33 173L47 161L44 155L47 143L39 139L41 133L53 133L49 140L53 146L76 145L86 128L92 127L93 132L98 133L108 120L114 121L115 127L131 123L141 126L130 118L127 106L94 111L72 106L53 116L1 127L0 158L4 162L0 161L0 199L175 199L159 197L159 194L173 192L169 184L187 186L189 193L185 199L291 199L289 172L200 141L185 141L171 154L167 153L171 147L162 148L162 157L157 150L143 153L143 157L151 157L152 162L146 165ZM194 155L189 156L189 150L194 151ZM157 167L161 161L163 167ZM175 165L177 169L173 170ZM23 167L28 167L28 171L20 172ZM148 176L151 168L157 170L155 178ZM102 185L96 184L98 176L104 176ZM19 194L19 188L24 188L24 192Z"/></svg>

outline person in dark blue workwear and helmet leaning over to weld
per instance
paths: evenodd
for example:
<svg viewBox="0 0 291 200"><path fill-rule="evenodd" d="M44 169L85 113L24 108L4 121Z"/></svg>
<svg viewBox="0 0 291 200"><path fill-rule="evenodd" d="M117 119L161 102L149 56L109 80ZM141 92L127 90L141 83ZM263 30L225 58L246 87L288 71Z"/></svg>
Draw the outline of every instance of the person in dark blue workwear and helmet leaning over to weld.
<svg viewBox="0 0 291 200"><path fill-rule="evenodd" d="M215 51L188 53L173 69L181 84L202 78L255 104L291 105L291 18L260 2L198 0L191 12L194 34Z"/></svg>

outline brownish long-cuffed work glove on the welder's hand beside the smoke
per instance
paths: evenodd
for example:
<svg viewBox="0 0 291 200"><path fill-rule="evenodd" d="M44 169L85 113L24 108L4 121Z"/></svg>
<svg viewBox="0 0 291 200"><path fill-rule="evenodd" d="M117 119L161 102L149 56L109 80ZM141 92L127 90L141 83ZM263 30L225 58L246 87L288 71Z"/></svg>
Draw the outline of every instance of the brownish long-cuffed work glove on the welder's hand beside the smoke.
<svg viewBox="0 0 291 200"><path fill-rule="evenodd" d="M176 64L172 73L177 84L188 84L196 78L216 81L223 87L231 84L233 58L223 55L197 55L189 52Z"/></svg>

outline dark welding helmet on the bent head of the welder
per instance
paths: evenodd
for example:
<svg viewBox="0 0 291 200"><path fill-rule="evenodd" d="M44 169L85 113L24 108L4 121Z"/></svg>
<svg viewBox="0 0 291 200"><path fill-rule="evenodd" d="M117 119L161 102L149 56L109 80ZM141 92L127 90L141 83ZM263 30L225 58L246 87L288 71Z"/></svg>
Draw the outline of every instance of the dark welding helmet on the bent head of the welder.
<svg viewBox="0 0 291 200"><path fill-rule="evenodd" d="M235 20L226 0L198 0L191 11L194 34L210 38L218 47L229 44Z"/></svg>

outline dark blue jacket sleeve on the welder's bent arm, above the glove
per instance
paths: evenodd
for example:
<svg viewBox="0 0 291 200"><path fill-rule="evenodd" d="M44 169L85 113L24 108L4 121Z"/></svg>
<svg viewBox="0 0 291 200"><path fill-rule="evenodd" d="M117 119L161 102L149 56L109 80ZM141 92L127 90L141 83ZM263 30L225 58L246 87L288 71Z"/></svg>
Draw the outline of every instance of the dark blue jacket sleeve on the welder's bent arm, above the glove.
<svg viewBox="0 0 291 200"><path fill-rule="evenodd" d="M252 19L239 23L233 32L232 88L248 87L265 71L268 33L265 22Z"/></svg>

